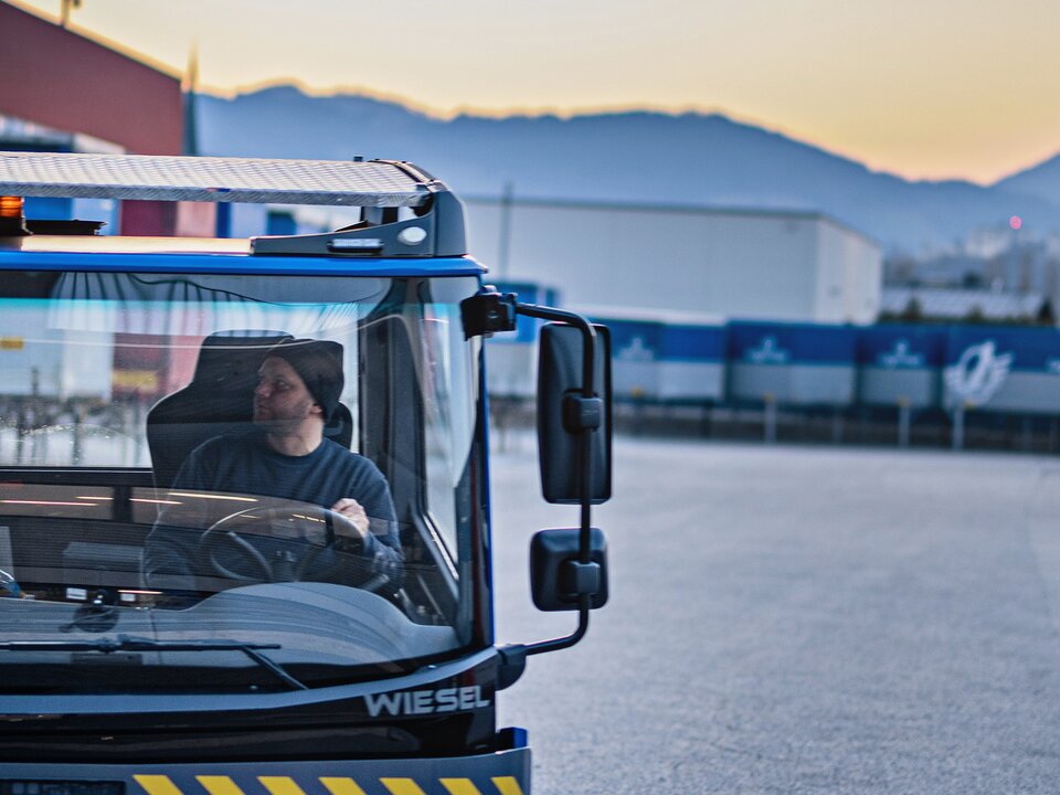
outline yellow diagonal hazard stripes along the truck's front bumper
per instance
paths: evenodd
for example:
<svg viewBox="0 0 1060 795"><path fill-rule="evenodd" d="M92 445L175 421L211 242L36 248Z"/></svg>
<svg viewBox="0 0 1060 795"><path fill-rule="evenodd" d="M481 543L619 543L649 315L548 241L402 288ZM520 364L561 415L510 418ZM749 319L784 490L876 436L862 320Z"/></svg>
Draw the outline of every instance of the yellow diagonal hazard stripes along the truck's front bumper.
<svg viewBox="0 0 1060 795"><path fill-rule="evenodd" d="M144 787L147 795L246 795L244 787L231 776L198 775L195 781L202 787L200 792L183 789L166 775L134 775L136 783ZM269 795L306 795L306 791L289 776L256 776L255 780ZM409 777L372 777L360 783L351 777L317 778L331 795L370 795L370 792L385 792L388 795L427 795L428 792L445 792L448 795L524 795L515 776L491 776L489 784L471 778L437 778L432 782ZM436 783L435 783L436 782ZM363 786L362 786L363 785ZM438 789L438 786L442 789ZM365 789L370 787L371 789ZM382 787L380 791L379 787Z"/></svg>

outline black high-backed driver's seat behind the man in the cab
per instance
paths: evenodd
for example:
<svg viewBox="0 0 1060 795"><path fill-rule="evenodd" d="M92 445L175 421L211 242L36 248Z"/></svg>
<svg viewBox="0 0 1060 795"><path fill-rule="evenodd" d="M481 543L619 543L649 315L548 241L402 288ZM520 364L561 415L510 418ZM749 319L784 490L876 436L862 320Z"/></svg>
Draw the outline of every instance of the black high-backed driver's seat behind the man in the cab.
<svg viewBox="0 0 1060 795"><path fill-rule="evenodd" d="M156 487L171 487L188 454L206 439L252 427L257 371L268 350L290 336L250 333L226 331L206 337L191 382L148 412L147 444ZM325 434L350 446L353 420L347 406L338 406Z"/></svg>

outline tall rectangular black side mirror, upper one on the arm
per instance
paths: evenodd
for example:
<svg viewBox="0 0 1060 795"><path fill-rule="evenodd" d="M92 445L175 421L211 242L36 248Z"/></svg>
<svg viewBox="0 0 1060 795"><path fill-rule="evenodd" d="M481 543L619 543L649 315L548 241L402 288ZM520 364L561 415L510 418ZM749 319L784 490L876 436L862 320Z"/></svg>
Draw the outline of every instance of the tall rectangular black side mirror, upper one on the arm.
<svg viewBox="0 0 1060 795"><path fill-rule="evenodd" d="M541 491L548 502L577 505L582 500L582 423L597 423L590 432L592 463L591 501L611 499L611 336L605 326L596 332L593 361L593 396L600 401L582 415L581 398L585 365L582 330L566 324L548 324L541 329L538 360L538 456Z"/></svg>

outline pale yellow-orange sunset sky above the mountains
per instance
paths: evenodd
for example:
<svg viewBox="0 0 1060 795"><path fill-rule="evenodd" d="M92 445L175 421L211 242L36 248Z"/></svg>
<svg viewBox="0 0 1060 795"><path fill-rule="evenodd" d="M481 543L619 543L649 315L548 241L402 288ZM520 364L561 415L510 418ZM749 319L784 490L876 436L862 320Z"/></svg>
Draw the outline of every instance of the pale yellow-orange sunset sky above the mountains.
<svg viewBox="0 0 1060 795"><path fill-rule="evenodd" d="M14 0L57 18L61 0ZM71 28L233 95L296 83L438 116L720 112L910 179L1060 152L1049 0L81 0Z"/></svg>

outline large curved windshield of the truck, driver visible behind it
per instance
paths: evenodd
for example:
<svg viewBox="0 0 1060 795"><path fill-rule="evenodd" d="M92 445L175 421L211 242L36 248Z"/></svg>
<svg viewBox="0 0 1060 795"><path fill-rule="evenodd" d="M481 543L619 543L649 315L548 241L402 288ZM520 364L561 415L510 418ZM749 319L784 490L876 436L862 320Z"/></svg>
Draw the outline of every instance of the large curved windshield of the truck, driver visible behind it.
<svg viewBox="0 0 1060 795"><path fill-rule="evenodd" d="M476 289L0 274L0 689L314 687L484 640Z"/></svg>

